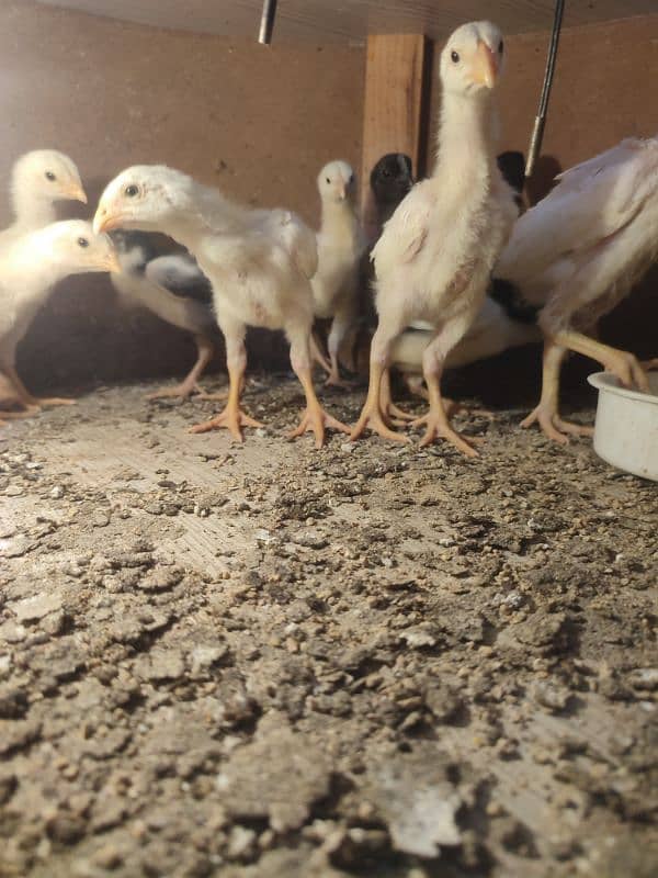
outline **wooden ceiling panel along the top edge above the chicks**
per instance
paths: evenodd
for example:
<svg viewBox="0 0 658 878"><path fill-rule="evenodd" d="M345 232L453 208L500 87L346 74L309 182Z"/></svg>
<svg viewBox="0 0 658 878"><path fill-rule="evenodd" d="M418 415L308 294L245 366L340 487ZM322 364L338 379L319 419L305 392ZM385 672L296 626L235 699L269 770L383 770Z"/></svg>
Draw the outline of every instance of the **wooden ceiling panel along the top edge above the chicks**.
<svg viewBox="0 0 658 878"><path fill-rule="evenodd" d="M262 0L42 0L126 21L256 40ZM274 42L363 41L368 34L424 33L443 40L465 21L492 19L504 33L551 27L555 0L280 0ZM656 10L656 0L571 0L565 25Z"/></svg>

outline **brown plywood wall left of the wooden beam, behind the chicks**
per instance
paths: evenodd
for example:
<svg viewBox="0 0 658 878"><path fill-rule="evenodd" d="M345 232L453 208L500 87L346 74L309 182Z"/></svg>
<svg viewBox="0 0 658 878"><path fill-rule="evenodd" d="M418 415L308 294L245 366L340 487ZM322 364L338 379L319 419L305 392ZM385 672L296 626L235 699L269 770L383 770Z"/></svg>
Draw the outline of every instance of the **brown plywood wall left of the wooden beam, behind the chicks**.
<svg viewBox="0 0 658 878"><path fill-rule="evenodd" d="M0 3L0 181L25 150L61 149L79 165L88 213L122 168L166 162L316 223L320 166L359 167L358 48L263 47L19 0ZM0 227L8 206L0 192ZM180 333L117 312L98 275L63 283L21 349L37 382L171 373L190 356Z"/></svg>

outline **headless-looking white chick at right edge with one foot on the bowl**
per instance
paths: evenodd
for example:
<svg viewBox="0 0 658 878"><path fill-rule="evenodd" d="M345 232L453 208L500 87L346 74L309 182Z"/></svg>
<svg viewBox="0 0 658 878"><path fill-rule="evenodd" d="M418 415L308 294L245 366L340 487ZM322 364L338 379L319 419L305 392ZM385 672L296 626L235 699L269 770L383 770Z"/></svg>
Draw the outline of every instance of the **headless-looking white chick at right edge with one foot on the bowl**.
<svg viewBox="0 0 658 878"><path fill-rule="evenodd" d="M598 360L625 386L648 390L637 359L591 338L658 258L658 137L623 140L565 171L558 185L517 223L496 274L542 308L540 404L523 421L565 443L590 427L559 416L559 370L567 350Z"/></svg>

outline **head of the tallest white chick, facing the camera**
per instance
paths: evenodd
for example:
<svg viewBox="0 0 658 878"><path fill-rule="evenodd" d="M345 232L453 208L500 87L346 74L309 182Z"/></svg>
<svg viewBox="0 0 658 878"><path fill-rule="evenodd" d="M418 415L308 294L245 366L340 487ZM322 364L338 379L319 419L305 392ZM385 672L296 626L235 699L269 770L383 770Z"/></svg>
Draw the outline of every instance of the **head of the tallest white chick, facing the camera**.
<svg viewBox="0 0 658 878"><path fill-rule="evenodd" d="M500 77L503 55L504 42L499 27L489 21L463 24L441 53L443 88L453 94L489 92Z"/></svg>

